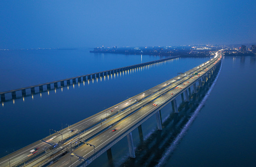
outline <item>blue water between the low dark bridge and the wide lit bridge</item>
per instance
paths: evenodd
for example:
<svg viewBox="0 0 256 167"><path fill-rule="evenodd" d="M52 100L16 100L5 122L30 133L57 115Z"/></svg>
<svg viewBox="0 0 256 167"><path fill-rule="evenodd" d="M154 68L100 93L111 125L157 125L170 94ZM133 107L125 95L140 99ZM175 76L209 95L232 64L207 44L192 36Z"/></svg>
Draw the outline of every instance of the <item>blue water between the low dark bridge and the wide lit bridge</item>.
<svg viewBox="0 0 256 167"><path fill-rule="evenodd" d="M146 56L144 57L146 59ZM76 123L127 97L132 97L177 76L177 72L187 71L207 60L209 59L171 60L162 65L158 63L148 66L147 70L143 70L145 68L142 67L136 68L134 72L130 71L129 75L125 75L124 72L118 73L115 80L114 78L105 80L104 76L104 82L102 79L93 84L90 84L92 81L88 81L88 84L83 82L84 86L73 84L73 89L64 86L61 89L54 89L56 93L50 93L53 91L51 89L33 94L33 99L25 96L22 100L17 98L15 104L9 101L2 103L0 133L4 130L9 140L0 139L0 143L5 143L0 148L0 156L4 156L6 150L17 150L42 139L48 135L48 129L58 130L61 128L61 123L63 125ZM45 96L46 92L48 95ZM147 133L146 130L145 133ZM19 140L16 140L17 136Z"/></svg>

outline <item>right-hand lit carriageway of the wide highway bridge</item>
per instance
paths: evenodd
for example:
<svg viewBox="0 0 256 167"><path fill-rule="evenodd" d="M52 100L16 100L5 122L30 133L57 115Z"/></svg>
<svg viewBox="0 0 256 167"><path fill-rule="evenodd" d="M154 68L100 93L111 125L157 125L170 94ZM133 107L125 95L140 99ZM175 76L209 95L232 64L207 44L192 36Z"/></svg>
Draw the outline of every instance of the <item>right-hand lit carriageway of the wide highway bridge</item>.
<svg viewBox="0 0 256 167"><path fill-rule="evenodd" d="M208 69L210 69L210 68L211 67L209 67ZM208 71L208 69L204 69L200 73L205 73L205 71ZM100 135L93 138L92 140L89 140L87 143L94 145L95 150L99 150L99 149L105 147L107 144L109 144L111 141L113 141L113 139L115 139L117 136L120 136L120 134L122 132L131 128L134 124L141 121L144 117L146 117L146 115L149 115L151 112L153 112L157 108L160 108L160 106L162 104L169 101L177 93L182 91L182 89L186 89L187 87L191 86L192 84L189 84L189 83L191 83L197 79L198 79L197 77L189 78L189 80L185 81L184 83L179 84L178 85L179 88L172 89L168 93L160 96L156 100L152 101L151 104L136 111L131 116L123 119L116 125L112 126L108 130L104 131ZM154 106L153 103L158 104L158 105ZM117 130L115 132L112 132L113 129L117 129ZM83 146L79 147L78 149L76 149L75 151L73 151L74 156L67 155L61 161L51 165L51 167L70 167L70 164L72 164L72 166L76 166L76 165L80 164L81 161L79 161L78 157L75 155L79 155L86 159L86 158L92 156L93 153L94 153L93 147L90 147L88 145L83 145Z"/></svg>

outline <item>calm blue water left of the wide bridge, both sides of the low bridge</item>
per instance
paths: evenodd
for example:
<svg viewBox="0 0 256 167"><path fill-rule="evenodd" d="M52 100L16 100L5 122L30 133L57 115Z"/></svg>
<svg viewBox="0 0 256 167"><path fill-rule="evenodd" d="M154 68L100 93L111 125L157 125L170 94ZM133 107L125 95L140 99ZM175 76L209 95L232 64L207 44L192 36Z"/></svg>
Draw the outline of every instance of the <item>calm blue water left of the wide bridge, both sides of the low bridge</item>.
<svg viewBox="0 0 256 167"><path fill-rule="evenodd" d="M89 49L0 52L1 91L158 60L158 56L92 54ZM4 102L0 106L0 157L209 60L182 58ZM98 63L97 63L98 62ZM13 66L12 66L13 65ZM9 77L11 76L11 77ZM6 98L11 98L6 97ZM155 120L155 119L153 119ZM152 125L153 127L155 125ZM149 126L150 127L150 126ZM143 129L144 130L144 129ZM152 129L149 128L149 132ZM143 132L143 133L144 133ZM145 134L146 135L146 134ZM136 138L136 135L134 135ZM122 142L119 142L122 144Z"/></svg>

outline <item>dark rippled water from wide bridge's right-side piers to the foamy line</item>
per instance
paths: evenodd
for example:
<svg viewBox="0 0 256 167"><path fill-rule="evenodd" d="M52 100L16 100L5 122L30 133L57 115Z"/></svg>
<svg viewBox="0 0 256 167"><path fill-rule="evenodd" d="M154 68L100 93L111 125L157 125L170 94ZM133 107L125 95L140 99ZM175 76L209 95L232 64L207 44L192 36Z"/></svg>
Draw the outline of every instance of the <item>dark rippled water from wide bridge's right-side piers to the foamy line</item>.
<svg viewBox="0 0 256 167"><path fill-rule="evenodd" d="M163 129L162 131L158 131L155 125L153 128L154 130L143 137L143 129L146 130L148 127L152 127L153 122L156 122L154 118L145 121L141 126L138 127L138 131L136 129L133 131L134 140L139 138L137 145L135 146L135 159L129 158L126 154L125 158L120 160L121 150L123 149L120 148L120 145L121 147L127 147L127 141L122 140L120 141L119 146L113 146L112 154L114 155L114 158L111 156L111 159L109 159L108 157L108 160L105 160L107 163L104 163L101 162L101 160L103 161L105 155L102 155L99 157L99 161L92 162L90 166L94 167L101 165L102 167L154 167L158 165L167 149L171 146L176 137L183 130L183 127L190 120L192 114L195 112L205 97L207 91L214 82L218 71L219 68L217 69L217 73L211 76L211 78L208 79L206 83L202 82L202 86L197 86L198 92L196 94L190 93L189 102L185 102L184 99L181 101L178 107L178 114L174 113L174 108L172 110L166 109L170 108L169 104L160 110ZM166 117L163 118L162 115L166 115ZM118 149L116 148L118 148L119 151L117 151ZM166 159L168 158L169 157L166 157Z"/></svg>

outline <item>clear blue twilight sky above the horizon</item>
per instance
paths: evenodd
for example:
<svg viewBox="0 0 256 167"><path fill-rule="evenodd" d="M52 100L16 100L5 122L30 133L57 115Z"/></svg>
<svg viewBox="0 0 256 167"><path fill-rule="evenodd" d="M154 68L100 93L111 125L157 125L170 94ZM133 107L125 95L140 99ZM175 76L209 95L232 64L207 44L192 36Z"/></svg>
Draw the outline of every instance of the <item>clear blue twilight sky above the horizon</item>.
<svg viewBox="0 0 256 167"><path fill-rule="evenodd" d="M256 0L0 0L0 49L256 42Z"/></svg>

